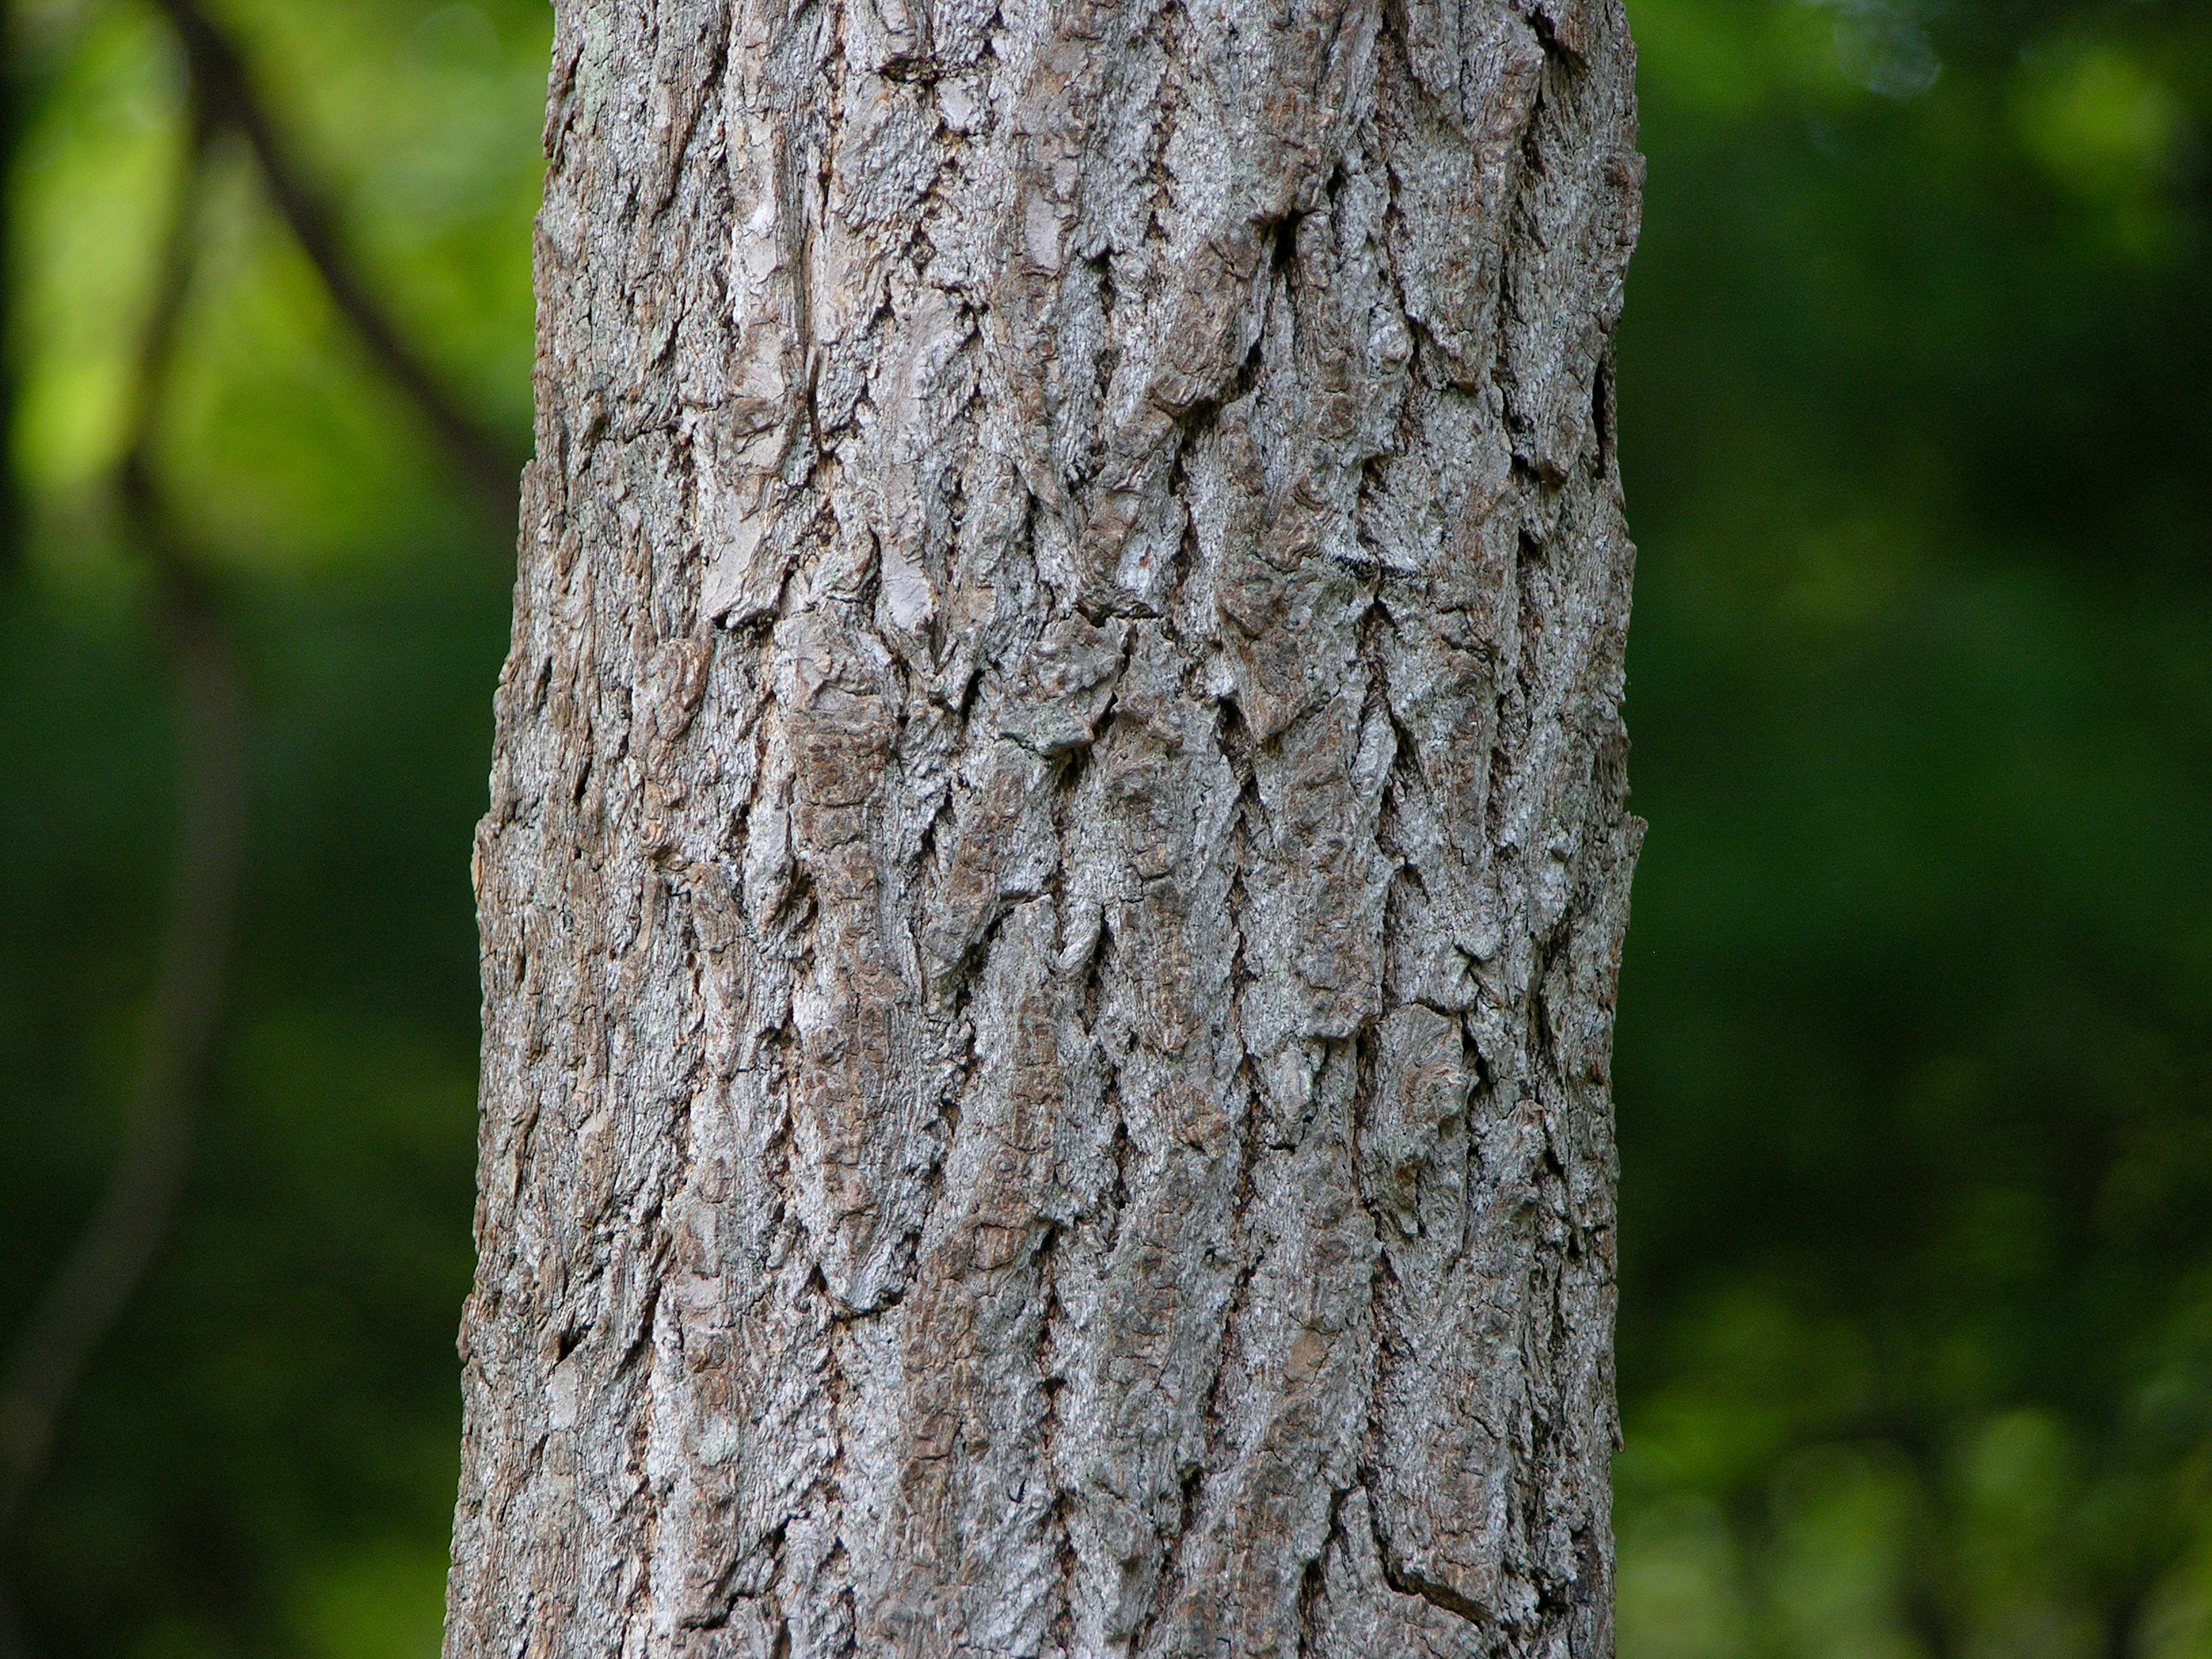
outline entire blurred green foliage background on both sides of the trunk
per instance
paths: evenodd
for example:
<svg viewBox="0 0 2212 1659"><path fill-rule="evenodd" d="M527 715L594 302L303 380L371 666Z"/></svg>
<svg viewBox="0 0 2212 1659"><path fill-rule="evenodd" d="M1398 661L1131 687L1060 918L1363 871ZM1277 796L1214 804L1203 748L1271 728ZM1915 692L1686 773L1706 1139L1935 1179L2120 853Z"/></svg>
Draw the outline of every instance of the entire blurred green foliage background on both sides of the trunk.
<svg viewBox="0 0 2212 1659"><path fill-rule="evenodd" d="M343 246L529 425L538 0L232 0ZM1624 1659L2212 1655L2212 15L1632 0L1652 832L1624 969ZM95 1201L175 843L115 507L184 157L13 0L0 1329ZM422 1659L511 533L234 142L159 476L254 697L192 1186L0 1586L53 1659Z"/></svg>

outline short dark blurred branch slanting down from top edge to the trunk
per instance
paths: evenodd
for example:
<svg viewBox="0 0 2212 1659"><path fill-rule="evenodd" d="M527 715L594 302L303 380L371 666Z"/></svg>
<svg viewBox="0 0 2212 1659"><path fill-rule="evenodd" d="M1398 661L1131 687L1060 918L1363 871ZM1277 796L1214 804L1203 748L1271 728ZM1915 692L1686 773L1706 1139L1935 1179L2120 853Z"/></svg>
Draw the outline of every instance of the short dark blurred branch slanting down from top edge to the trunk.
<svg viewBox="0 0 2212 1659"><path fill-rule="evenodd" d="M246 133L254 161L261 166L261 177L268 179L276 212L283 215L283 221L292 228L299 246L321 274L332 303L352 323L385 376L422 411L422 418L447 447L469 487L502 524L511 522L524 456L456 403L416 349L400 338L385 307L345 257L336 232L336 217L307 179L301 177L301 170L292 166L292 153L281 142L270 113L254 95L252 75L237 46L199 9L197 0L159 0L159 7L184 42L192 80L199 84L208 108L221 119L234 122Z"/></svg>

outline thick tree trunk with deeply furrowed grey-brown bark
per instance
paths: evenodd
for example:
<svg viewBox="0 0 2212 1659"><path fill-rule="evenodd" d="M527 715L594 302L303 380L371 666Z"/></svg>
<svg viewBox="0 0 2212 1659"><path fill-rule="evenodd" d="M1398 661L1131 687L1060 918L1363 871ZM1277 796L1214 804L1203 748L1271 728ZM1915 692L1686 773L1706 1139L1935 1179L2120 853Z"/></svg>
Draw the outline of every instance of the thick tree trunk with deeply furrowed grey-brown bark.
<svg viewBox="0 0 2212 1659"><path fill-rule="evenodd" d="M449 1659L1610 1652L1619 0L564 0Z"/></svg>

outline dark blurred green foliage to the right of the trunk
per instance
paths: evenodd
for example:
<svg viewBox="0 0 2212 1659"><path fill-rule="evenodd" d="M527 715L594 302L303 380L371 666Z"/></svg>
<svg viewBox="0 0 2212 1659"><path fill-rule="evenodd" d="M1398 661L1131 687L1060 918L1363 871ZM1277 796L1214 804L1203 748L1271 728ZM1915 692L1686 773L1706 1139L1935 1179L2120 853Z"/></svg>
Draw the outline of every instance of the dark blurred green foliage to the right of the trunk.
<svg viewBox="0 0 2212 1659"><path fill-rule="evenodd" d="M2212 1655L2212 15L1630 15L1621 1652Z"/></svg>

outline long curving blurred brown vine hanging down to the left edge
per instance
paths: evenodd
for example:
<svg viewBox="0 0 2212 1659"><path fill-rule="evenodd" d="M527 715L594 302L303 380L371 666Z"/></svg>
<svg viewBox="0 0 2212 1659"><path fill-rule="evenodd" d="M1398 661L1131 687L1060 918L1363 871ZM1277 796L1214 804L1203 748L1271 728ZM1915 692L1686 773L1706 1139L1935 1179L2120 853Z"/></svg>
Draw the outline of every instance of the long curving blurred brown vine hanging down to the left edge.
<svg viewBox="0 0 2212 1659"><path fill-rule="evenodd" d="M155 969L122 1155L100 1208L46 1285L0 1389L0 1535L44 1473L62 1409L86 1360L139 1287L168 1232L192 1152L199 1075L215 1042L246 821L246 688L215 595L177 546L153 484L153 442L177 321L192 276L210 124L195 102L177 219L139 356L133 442L117 493L155 568L155 619L177 699L175 894ZM20 1641L20 1637L15 1637Z"/></svg>

